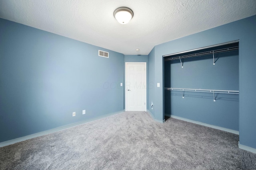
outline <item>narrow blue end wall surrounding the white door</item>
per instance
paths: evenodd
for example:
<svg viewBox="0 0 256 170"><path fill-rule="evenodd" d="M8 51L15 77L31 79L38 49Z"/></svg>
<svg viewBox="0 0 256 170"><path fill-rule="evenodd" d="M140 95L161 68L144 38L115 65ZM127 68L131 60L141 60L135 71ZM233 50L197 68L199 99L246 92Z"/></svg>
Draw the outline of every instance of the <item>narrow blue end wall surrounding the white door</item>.
<svg viewBox="0 0 256 170"><path fill-rule="evenodd" d="M124 55L124 74L125 74L125 62L146 62L147 64L147 107L148 107L148 55ZM124 75L125 82L125 75ZM125 87L125 83L124 83ZM125 88L124 88L125 89ZM125 92L124 92L125 95ZM125 106L125 101L124 101Z"/></svg>

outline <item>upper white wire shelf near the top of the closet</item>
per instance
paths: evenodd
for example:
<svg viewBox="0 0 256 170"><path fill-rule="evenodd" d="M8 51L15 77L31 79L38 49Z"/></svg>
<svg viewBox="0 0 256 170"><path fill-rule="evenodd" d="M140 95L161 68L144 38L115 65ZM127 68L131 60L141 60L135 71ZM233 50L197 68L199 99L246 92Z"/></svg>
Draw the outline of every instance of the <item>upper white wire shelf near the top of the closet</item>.
<svg viewBox="0 0 256 170"><path fill-rule="evenodd" d="M177 60L177 59L186 59L186 58L190 58L190 57L197 57L197 56L201 56L201 55L208 55L208 54L216 54L216 53L222 53L222 52L226 52L226 51L233 51L233 50L238 50L239 47L229 47L229 48L224 48L224 49L218 49L218 50L213 50L213 51L206 51L206 52L202 52L202 53L194 53L194 54L189 54L189 55L183 55L183 56L179 56L179 57L172 57L169 59L164 59L164 61L172 61L172 60Z"/></svg>

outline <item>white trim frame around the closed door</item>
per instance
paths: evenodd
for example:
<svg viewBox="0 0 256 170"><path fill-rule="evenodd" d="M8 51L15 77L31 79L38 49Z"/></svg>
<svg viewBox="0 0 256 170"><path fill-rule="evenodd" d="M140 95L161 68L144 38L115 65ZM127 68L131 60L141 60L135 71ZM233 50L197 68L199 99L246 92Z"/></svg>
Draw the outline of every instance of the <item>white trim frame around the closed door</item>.
<svg viewBox="0 0 256 170"><path fill-rule="evenodd" d="M148 89L148 86L147 86L147 63L146 62L125 62L125 111L127 111L127 86L126 86L126 82L127 82L127 64L144 64L145 66L145 86L146 88L144 89L144 98L145 98L145 108L144 108L144 111L147 111L147 89Z"/></svg>

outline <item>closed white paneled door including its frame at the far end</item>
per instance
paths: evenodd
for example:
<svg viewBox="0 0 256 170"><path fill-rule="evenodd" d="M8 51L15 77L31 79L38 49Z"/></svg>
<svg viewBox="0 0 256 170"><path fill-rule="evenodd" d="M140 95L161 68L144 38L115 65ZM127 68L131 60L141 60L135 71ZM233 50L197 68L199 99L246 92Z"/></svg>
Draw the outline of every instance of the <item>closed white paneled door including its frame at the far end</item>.
<svg viewBox="0 0 256 170"><path fill-rule="evenodd" d="M146 63L125 63L126 111L146 111Z"/></svg>

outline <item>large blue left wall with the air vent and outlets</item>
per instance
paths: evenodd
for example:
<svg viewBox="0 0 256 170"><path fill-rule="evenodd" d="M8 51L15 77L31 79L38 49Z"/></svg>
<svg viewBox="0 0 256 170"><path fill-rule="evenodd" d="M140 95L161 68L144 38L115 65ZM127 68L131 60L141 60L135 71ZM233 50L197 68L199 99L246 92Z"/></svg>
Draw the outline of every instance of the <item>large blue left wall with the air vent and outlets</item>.
<svg viewBox="0 0 256 170"><path fill-rule="evenodd" d="M123 54L0 19L0 142L122 111L123 65Z"/></svg>

